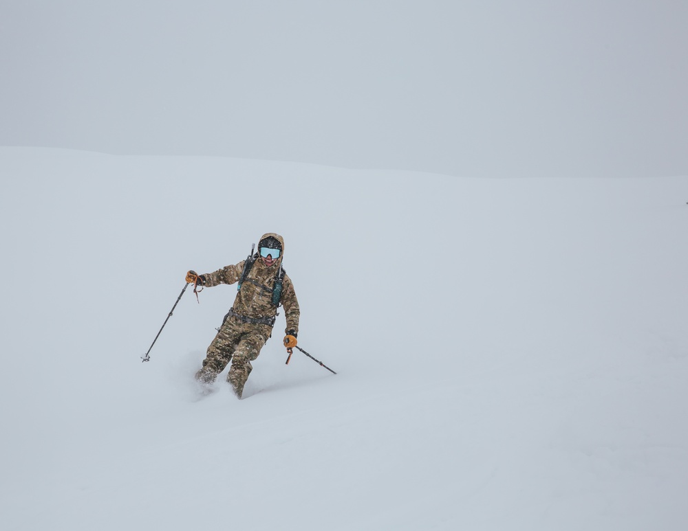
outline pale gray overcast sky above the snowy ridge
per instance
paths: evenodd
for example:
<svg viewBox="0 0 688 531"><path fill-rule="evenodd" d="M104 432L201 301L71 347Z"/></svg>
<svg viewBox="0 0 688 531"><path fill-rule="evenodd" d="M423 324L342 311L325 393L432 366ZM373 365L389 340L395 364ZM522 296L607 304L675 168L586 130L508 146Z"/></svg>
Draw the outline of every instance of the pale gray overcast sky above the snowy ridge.
<svg viewBox="0 0 688 531"><path fill-rule="evenodd" d="M688 174L688 1L0 0L0 145Z"/></svg>

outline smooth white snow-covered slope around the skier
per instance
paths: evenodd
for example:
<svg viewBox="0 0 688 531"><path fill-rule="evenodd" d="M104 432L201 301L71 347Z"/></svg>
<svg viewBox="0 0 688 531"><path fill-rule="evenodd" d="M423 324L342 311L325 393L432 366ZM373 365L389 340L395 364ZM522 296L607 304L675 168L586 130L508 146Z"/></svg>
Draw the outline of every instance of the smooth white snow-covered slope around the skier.
<svg viewBox="0 0 688 531"><path fill-rule="evenodd" d="M0 148L3 530L684 530L688 179ZM236 400L192 374L286 240ZM223 375L224 376L224 375ZM223 379L224 380L224 379Z"/></svg>

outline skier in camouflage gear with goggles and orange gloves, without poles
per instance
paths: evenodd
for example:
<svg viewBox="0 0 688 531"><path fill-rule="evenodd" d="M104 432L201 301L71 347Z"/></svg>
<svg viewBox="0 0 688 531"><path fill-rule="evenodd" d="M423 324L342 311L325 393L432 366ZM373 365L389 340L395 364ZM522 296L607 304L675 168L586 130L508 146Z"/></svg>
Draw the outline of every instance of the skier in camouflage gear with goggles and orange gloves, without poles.
<svg viewBox="0 0 688 531"><path fill-rule="evenodd" d="M231 361L227 381L238 398L252 370L251 361L272 335L277 308L284 307L287 326L284 346L297 345L299 302L291 279L282 269L284 240L279 234L264 234L258 252L236 265L228 265L215 273L186 273L186 282L204 287L239 282L234 305L224 316L222 326L208 346L206 359L195 377L202 385L211 385Z"/></svg>

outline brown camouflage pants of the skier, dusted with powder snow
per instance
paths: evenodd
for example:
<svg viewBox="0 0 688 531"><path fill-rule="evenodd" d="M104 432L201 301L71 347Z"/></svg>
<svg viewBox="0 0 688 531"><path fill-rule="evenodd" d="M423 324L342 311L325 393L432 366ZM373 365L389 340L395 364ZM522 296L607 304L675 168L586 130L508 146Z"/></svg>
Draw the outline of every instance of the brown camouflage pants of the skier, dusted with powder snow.
<svg viewBox="0 0 688 531"><path fill-rule="evenodd" d="M251 361L260 354L270 337L272 327L266 324L248 324L236 317L228 317L208 346L203 367L196 373L202 383L213 383L231 361L227 381L239 398L252 370Z"/></svg>

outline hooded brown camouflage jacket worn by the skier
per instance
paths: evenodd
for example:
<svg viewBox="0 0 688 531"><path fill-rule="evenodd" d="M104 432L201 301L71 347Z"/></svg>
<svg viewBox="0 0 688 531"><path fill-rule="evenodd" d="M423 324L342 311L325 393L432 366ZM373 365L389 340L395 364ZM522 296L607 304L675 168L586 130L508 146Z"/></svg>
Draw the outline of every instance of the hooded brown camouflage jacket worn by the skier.
<svg viewBox="0 0 688 531"><path fill-rule="evenodd" d="M260 317L274 317L277 314L277 308L272 304L272 288L275 286L275 280L279 267L284 256L284 241L278 234L265 234L261 237L274 236L282 244L282 252L277 261L270 267L266 267L263 260L257 258L253 262L253 267L246 275L246 279L241 284L241 289L237 293L237 298L234 301L232 309L239 315L251 317L252 319L259 319ZM204 273L204 286L213 287L219 284L234 284L241 278L241 272L244 271L244 262L242 260L238 264L228 265L222 269L218 269L214 273ZM282 296L280 302L284 308L284 316L286 317L288 330L299 332L299 301L297 294L294 292L294 284L288 275L284 275L282 280Z"/></svg>

